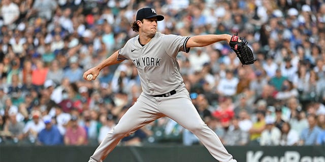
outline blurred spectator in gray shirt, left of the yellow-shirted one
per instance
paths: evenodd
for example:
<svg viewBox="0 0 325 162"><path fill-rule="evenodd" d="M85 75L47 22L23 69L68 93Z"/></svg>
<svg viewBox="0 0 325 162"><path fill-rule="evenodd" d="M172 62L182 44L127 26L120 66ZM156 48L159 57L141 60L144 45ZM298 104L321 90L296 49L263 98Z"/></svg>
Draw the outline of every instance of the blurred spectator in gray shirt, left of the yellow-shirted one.
<svg viewBox="0 0 325 162"><path fill-rule="evenodd" d="M226 133L222 138L222 143L224 145L246 145L249 140L248 132L242 131L239 127L239 118L234 117L232 119L232 125L228 128Z"/></svg>

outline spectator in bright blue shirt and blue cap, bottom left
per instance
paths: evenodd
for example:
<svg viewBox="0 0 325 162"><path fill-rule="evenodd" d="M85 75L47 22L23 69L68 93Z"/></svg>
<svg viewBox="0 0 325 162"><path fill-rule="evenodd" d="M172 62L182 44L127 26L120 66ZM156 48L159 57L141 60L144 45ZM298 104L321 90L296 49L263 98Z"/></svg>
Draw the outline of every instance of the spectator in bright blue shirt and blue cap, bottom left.
<svg viewBox="0 0 325 162"><path fill-rule="evenodd" d="M38 134L40 145L61 145L63 138L56 126L52 124L51 117L44 117L45 128Z"/></svg>

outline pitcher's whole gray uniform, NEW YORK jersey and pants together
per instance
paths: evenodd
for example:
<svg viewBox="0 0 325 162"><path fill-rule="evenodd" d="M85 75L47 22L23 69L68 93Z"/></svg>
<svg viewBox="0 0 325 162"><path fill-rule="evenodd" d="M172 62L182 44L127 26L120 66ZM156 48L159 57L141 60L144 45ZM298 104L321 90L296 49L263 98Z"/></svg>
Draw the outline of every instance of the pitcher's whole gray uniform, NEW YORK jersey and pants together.
<svg viewBox="0 0 325 162"><path fill-rule="evenodd" d="M157 32L145 46L138 39L139 36L129 39L118 51L117 60L129 59L134 63L143 92L106 135L89 162L102 162L123 137L164 116L194 133L215 159L237 162L204 123L183 83L176 56L180 51L189 51L185 48L189 37Z"/></svg>

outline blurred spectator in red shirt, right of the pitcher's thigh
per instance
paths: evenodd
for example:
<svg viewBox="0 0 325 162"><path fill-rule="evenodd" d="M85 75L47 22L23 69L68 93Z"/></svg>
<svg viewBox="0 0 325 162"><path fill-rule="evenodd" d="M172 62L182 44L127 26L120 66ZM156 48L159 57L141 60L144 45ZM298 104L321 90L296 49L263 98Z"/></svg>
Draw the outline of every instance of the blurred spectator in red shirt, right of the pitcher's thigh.
<svg viewBox="0 0 325 162"><path fill-rule="evenodd" d="M229 104L229 99L221 96L219 98L219 107L212 113L212 115L219 119L223 128L228 128L232 118L235 116L234 109Z"/></svg>

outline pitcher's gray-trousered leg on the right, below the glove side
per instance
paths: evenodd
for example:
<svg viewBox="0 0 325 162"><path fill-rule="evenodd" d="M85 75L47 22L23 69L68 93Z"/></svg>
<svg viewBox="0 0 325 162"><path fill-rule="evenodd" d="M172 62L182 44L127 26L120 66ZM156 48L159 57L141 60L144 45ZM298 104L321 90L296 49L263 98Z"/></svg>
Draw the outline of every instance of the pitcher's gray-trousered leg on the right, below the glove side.
<svg viewBox="0 0 325 162"><path fill-rule="evenodd" d="M195 134L215 159L221 162L236 161L224 148L218 136L201 119L186 90L161 98L158 108L161 113Z"/></svg>

